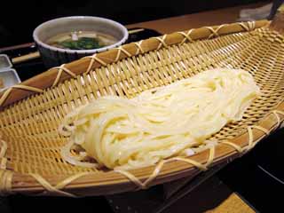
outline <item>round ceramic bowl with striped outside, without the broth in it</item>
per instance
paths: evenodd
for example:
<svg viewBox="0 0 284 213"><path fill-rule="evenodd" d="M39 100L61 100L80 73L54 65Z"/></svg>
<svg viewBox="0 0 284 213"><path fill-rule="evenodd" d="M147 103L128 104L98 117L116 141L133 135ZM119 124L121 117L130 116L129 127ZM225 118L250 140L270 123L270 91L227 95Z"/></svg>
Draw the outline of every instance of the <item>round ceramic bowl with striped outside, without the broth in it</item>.
<svg viewBox="0 0 284 213"><path fill-rule="evenodd" d="M71 31L97 31L106 35L114 36L118 42L91 50L66 50L45 43L51 36ZM99 51L106 51L122 45L128 39L127 28L114 20L107 20L91 16L70 16L49 20L39 25L33 33L37 48L43 58L46 67L55 67L63 63L80 59Z"/></svg>

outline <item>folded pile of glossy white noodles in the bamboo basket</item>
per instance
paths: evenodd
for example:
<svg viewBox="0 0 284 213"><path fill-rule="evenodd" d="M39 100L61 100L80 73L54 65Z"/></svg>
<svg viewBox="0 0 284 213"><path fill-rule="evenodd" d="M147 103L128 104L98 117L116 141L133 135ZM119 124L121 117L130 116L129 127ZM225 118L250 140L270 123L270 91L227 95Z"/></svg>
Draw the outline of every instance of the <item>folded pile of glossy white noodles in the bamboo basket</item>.
<svg viewBox="0 0 284 213"><path fill-rule="evenodd" d="M129 170L196 153L226 123L241 120L259 94L248 72L222 68L134 99L102 97L67 114L59 131L70 138L61 155L79 166Z"/></svg>

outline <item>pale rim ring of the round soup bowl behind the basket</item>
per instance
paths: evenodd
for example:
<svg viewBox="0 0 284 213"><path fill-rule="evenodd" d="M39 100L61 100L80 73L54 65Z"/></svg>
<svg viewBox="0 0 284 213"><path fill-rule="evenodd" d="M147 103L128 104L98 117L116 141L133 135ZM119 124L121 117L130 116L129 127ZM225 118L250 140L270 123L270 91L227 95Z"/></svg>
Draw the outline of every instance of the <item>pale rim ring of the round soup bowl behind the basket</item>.
<svg viewBox="0 0 284 213"><path fill-rule="evenodd" d="M98 48L98 49L91 49L91 50L67 50L67 49L63 49L63 48L59 48L59 47L53 47L47 43L43 43L43 41L41 41L39 38L38 38L38 32L39 30L41 30L41 28L43 28L43 26L47 25L47 24L51 24L53 22L57 22L57 21L60 21L60 20L78 20L78 19L91 19L91 20L101 20L101 21L104 21L106 23L111 23L113 24L114 26L116 26L117 28L120 28L122 29L122 34L123 34L123 37L121 40L119 40L118 42L116 43L113 43L111 45L107 45L105 47L101 47L101 48ZM106 51L106 50L109 50L109 49L112 49L114 47L117 47L119 45L121 45L122 43L125 43L126 40L128 39L128 36L129 36L129 33L128 33L128 30L127 28L125 28L121 23L115 21L115 20L109 20L109 19L106 19L106 18L102 18L102 17L98 17L98 16L66 16L66 17L60 17L60 18L57 18L57 19L53 19L53 20L48 20L48 21L45 21L43 22L42 24L40 24L39 26L37 26L33 32L33 38L36 42L37 45L40 45L40 46L43 46L44 48L46 49L49 49L51 51L59 51L59 52L63 52L63 53L77 53L77 54L90 54L90 53L95 53L95 52L100 52L100 51Z"/></svg>

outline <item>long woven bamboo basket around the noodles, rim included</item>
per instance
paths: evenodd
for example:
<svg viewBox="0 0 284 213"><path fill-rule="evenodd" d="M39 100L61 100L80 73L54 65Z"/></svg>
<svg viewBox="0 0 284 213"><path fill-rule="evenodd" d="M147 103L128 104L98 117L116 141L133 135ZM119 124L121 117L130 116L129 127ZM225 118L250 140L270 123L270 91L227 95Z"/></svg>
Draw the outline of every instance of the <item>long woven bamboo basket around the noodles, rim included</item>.
<svg viewBox="0 0 284 213"><path fill-rule="evenodd" d="M280 20L280 21L279 21ZM196 175L230 162L280 127L284 119L282 17L190 29L153 37L53 67L0 95L0 192L87 196L122 193ZM64 115L99 96L134 97L214 67L243 68L262 96L240 122L213 136L218 145L188 158L122 174L64 162Z"/></svg>

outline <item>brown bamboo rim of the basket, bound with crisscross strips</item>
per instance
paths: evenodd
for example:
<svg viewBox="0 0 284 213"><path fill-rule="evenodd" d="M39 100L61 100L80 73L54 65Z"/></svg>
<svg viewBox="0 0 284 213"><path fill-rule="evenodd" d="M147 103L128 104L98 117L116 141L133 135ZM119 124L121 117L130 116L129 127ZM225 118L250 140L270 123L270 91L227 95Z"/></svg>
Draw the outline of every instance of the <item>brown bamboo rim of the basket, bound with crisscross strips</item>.
<svg viewBox="0 0 284 213"><path fill-rule="evenodd" d="M85 72L85 70L88 73L91 69L103 66L106 67L109 63L115 63L128 57L153 51L154 49L160 49L167 47L168 45L184 43L186 41L191 42L194 40L210 39L216 36L225 36L251 31L257 28L269 28L270 26L272 26L272 24L267 20L224 24L214 27L190 29L184 32L149 38L144 41L142 40L139 43L124 44L113 50L104 51L91 57L85 57L60 67L53 67L41 75L36 75L19 85L13 86L8 91L4 91L0 94L0 107L2 107L1 109L11 107L12 104L17 103L17 101L21 101L21 99L27 99L29 96L33 96L38 92L43 92L45 89L54 87L58 85L58 83L66 81L70 77L81 75ZM148 45L149 43L151 45ZM151 48L149 48L150 46ZM107 61L104 59L107 59ZM43 79L47 79L47 83L41 84L41 80ZM266 137L272 130L276 130L280 126L280 123L284 120L283 112L284 101L282 100L279 106L257 123L257 126L248 127L248 131L242 133L236 138L233 138L229 143L218 144L216 148L214 148L213 159L210 159L210 152L212 150L205 150L199 154L194 154L189 158L193 160L193 162L201 163L201 165L206 165L208 163L206 166L212 166L221 161L230 162L234 158L241 156L243 151L247 151L246 147L248 147L248 150L253 148L259 140ZM232 146L232 143L236 146ZM252 144L249 145L249 143ZM165 163L167 164L167 167L162 167L158 172L158 175L147 185L139 185L139 183L133 184L133 180L130 180L129 177L125 177L114 171L106 173L101 172L99 173L99 177L98 173L94 172L80 174L77 177L71 178L65 175L57 177L45 176L43 178L31 176L30 174L20 174L11 170L0 169L0 193L35 194L45 192L46 194L68 195L65 194L65 192L75 192L79 196L84 196L86 194L99 195L114 192L120 193L136 190L138 187L144 188L168 182L179 177L185 177L196 172L199 167L188 162L181 161ZM144 181L153 174L155 168L156 166L150 166L143 168L143 170L130 171L131 173L135 173L138 180L140 180L140 183L145 183ZM199 167L199 169L201 168ZM101 180L104 181L101 182ZM119 190L111 192L109 187L115 187L115 185L121 185L122 187L120 187ZM76 191L77 189L86 190L87 188L91 189L92 187L98 191L89 193L83 193L80 190L78 193Z"/></svg>

